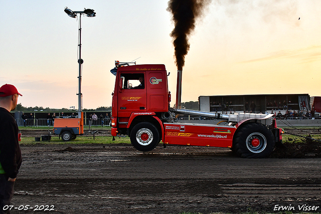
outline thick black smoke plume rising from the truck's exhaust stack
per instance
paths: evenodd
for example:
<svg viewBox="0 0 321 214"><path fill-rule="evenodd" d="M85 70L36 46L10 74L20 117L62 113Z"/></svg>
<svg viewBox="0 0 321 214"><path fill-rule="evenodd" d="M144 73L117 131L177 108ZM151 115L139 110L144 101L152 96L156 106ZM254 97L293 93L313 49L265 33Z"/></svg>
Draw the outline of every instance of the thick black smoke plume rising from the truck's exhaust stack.
<svg viewBox="0 0 321 214"><path fill-rule="evenodd" d="M171 33L175 47L176 65L183 70L185 56L190 50L189 35L195 29L195 22L202 15L203 8L211 0L170 0L167 10L172 13L175 28Z"/></svg>

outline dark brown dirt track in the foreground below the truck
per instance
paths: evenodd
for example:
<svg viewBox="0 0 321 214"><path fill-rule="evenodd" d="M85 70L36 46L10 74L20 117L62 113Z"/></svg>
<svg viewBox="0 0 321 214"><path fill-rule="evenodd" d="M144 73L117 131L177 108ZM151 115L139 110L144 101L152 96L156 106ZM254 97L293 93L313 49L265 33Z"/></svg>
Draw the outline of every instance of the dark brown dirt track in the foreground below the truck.
<svg viewBox="0 0 321 214"><path fill-rule="evenodd" d="M276 212L286 205L298 212L304 204L321 206L319 158L242 159L229 149L180 146L141 153L130 145L37 144L22 152L13 205L54 206L27 213ZM17 209L13 213L26 212Z"/></svg>

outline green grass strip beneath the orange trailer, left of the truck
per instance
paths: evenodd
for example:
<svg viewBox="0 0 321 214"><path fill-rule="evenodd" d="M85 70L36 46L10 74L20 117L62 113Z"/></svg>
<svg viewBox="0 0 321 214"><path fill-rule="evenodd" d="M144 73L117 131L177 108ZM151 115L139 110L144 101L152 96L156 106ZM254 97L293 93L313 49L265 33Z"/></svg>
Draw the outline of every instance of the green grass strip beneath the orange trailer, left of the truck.
<svg viewBox="0 0 321 214"><path fill-rule="evenodd" d="M116 144L116 143L126 143L130 144L130 139L126 138L118 138L115 137L115 141L112 140L110 136L77 136L75 140L71 141L63 141L61 138L57 136L52 136L50 142L48 141L35 141L35 137L22 137L20 141L20 145L34 145L34 144Z"/></svg>

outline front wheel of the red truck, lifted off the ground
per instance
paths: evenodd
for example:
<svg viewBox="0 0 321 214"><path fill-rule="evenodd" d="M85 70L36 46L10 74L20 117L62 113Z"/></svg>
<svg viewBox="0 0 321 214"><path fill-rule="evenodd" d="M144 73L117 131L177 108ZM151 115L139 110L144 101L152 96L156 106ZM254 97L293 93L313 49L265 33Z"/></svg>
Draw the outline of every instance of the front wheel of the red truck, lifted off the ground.
<svg viewBox="0 0 321 214"><path fill-rule="evenodd" d="M160 141L157 128L149 122L136 124L130 132L130 142L141 152L153 150Z"/></svg>

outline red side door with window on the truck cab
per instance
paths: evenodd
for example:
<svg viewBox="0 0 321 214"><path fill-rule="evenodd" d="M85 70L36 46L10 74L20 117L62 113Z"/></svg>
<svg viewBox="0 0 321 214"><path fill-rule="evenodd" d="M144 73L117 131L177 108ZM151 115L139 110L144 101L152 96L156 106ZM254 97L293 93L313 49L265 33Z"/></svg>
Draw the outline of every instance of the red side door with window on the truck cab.
<svg viewBox="0 0 321 214"><path fill-rule="evenodd" d="M118 117L130 117L132 112L146 112L145 73L123 72L120 78Z"/></svg>

